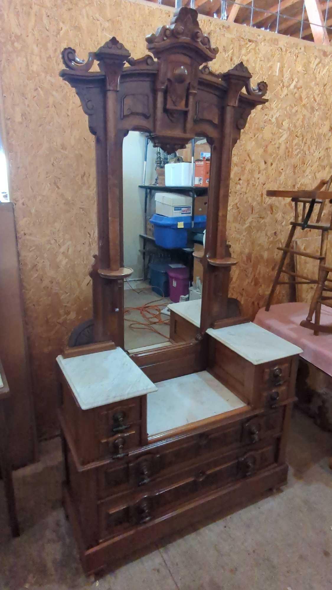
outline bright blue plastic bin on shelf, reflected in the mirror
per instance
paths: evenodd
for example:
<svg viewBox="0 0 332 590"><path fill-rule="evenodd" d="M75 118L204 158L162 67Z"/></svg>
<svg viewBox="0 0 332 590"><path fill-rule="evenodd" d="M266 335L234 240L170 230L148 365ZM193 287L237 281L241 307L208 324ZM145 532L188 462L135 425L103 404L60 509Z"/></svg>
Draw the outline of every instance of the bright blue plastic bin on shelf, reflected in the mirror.
<svg viewBox="0 0 332 590"><path fill-rule="evenodd" d="M191 217L165 217L155 213L150 222L154 225L155 243L158 246L170 249L187 247Z"/></svg>

